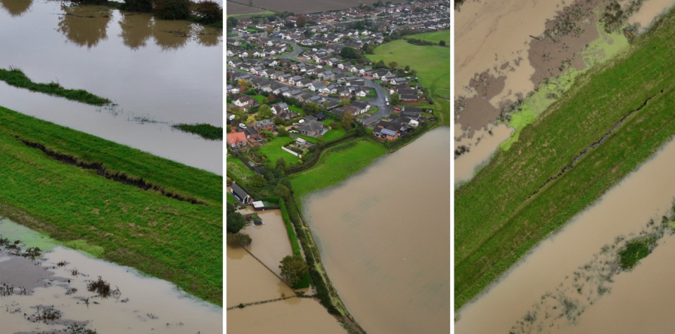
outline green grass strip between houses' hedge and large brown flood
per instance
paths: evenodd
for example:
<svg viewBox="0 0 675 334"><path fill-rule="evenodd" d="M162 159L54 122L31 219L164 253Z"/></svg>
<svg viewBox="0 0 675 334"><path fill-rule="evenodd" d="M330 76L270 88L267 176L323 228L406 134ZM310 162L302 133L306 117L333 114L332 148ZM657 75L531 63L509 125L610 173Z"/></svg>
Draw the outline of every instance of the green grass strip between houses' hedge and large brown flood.
<svg viewBox="0 0 675 334"><path fill-rule="evenodd" d="M290 176L295 198L300 200L312 191L339 184L385 153L385 148L370 141L349 141L328 148L314 167Z"/></svg>

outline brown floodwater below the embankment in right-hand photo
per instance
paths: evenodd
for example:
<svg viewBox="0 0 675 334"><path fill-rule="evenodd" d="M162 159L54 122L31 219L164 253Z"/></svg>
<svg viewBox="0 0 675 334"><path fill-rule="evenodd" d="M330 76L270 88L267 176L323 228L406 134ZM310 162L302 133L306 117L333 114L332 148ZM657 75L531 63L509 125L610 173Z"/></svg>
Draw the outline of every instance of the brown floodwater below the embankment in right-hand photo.
<svg viewBox="0 0 675 334"><path fill-rule="evenodd" d="M617 274L613 283L605 283L608 294L591 289L589 295L580 297L569 288L579 282L593 284L577 282L575 272L597 262L604 245L612 245L617 236L638 235L650 219L661 221L675 198L674 164L675 142L671 141L466 304L455 323L456 333L509 333L551 296L579 300L575 311L581 314L574 313L572 320L551 320L556 311L547 308L551 318L545 319L544 312L539 311L538 316L528 318L536 323L535 330L524 333L671 333L675 321L664 314L675 312L673 236L664 236L653 254L633 271Z"/></svg>

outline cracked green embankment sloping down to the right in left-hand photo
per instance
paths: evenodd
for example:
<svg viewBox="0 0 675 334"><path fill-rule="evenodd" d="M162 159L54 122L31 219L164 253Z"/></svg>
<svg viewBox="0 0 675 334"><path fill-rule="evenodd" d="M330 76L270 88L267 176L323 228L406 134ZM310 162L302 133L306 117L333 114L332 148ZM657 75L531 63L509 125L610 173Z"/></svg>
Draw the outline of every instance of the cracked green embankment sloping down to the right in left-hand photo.
<svg viewBox="0 0 675 334"><path fill-rule="evenodd" d="M22 140L207 205L113 181ZM63 243L102 248L103 259L222 303L221 176L1 107L0 148L0 215Z"/></svg>

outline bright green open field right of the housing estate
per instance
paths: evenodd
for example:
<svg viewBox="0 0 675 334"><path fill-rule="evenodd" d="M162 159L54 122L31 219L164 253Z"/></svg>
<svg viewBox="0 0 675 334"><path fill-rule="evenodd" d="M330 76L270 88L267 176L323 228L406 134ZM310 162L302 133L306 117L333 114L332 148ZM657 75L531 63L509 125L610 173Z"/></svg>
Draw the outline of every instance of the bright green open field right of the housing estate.
<svg viewBox="0 0 675 334"><path fill-rule="evenodd" d="M431 34L447 34L448 30ZM436 115L441 124L449 126L450 117L450 49L443 46L418 46L398 39L389 43L380 44L375 48L374 55L366 55L373 62L384 60L385 64L392 61L398 63L399 68L410 65L417 71L417 77L423 88L432 96Z"/></svg>

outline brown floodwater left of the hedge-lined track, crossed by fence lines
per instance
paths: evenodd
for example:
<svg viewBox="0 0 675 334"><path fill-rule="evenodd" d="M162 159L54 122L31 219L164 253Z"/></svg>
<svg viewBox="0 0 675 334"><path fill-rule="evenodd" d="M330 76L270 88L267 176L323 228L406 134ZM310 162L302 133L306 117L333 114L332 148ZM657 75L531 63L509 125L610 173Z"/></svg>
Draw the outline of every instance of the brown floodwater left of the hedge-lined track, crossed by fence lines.
<svg viewBox="0 0 675 334"><path fill-rule="evenodd" d="M240 212L248 214L253 210ZM250 253L243 248L227 246L226 307L295 295L293 289L271 272L279 275L281 259L293 255L281 212L266 210L256 213L264 224L246 226L242 230L252 238L248 248ZM345 333L340 323L319 302L309 298L292 297L252 304L243 309L231 309L227 311L227 316L227 333Z"/></svg>

